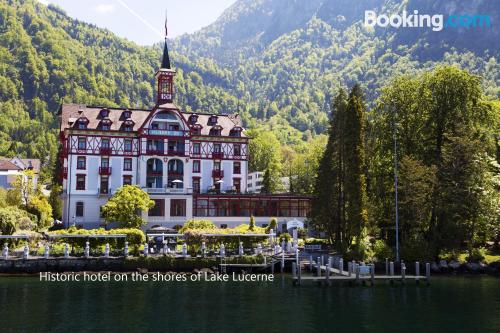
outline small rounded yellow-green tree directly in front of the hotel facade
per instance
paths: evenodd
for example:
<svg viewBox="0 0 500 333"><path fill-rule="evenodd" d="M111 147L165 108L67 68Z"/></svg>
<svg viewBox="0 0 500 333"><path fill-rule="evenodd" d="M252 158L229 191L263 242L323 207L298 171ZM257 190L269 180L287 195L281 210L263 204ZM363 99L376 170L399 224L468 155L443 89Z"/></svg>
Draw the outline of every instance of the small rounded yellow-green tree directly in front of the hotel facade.
<svg viewBox="0 0 500 333"><path fill-rule="evenodd" d="M146 221L140 216L154 206L154 201L138 186L120 187L102 206L107 222L118 222L124 228L140 228Z"/></svg>

